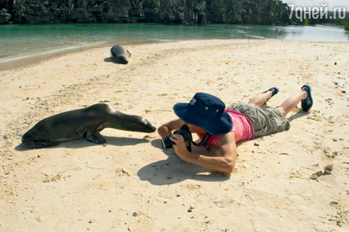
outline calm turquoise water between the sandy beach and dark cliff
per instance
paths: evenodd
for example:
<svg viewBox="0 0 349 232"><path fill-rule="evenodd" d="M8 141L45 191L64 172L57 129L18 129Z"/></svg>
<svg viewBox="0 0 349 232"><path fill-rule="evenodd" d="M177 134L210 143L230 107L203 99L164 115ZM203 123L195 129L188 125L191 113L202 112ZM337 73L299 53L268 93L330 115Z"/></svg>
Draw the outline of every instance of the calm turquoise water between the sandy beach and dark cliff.
<svg viewBox="0 0 349 232"><path fill-rule="evenodd" d="M341 26L260 26L210 24L50 24L0 25L0 69L10 64L105 45L191 39L276 39L349 42Z"/></svg>

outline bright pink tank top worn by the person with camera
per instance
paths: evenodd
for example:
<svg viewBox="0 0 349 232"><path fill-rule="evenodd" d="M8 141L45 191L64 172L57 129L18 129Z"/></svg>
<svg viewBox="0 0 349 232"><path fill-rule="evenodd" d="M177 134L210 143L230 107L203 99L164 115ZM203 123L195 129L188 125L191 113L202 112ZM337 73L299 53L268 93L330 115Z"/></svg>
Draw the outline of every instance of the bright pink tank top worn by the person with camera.
<svg viewBox="0 0 349 232"><path fill-rule="evenodd" d="M231 117L231 121L233 122L233 128L231 131L235 131L235 142L252 139L254 137L254 131L252 124L248 118L236 111L233 110L225 110ZM205 137L203 133L197 133L200 139ZM222 135L211 135L208 140L209 145L214 145L217 147L221 146L221 137Z"/></svg>

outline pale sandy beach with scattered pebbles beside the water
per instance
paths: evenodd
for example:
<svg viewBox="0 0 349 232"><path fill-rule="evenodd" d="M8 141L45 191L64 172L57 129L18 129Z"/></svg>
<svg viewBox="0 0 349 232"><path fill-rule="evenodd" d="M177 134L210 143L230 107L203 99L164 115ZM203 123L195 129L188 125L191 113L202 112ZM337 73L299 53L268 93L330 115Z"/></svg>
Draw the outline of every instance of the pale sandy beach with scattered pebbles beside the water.
<svg viewBox="0 0 349 232"><path fill-rule="evenodd" d="M349 230L348 43L125 47L127 65L104 47L0 72L0 231ZM159 127L199 91L229 105L277 86L267 103L276 107L304 83L312 109L290 112L288 131L239 142L231 175L163 151L157 132L104 129L106 146L21 144L38 121L99 102Z"/></svg>

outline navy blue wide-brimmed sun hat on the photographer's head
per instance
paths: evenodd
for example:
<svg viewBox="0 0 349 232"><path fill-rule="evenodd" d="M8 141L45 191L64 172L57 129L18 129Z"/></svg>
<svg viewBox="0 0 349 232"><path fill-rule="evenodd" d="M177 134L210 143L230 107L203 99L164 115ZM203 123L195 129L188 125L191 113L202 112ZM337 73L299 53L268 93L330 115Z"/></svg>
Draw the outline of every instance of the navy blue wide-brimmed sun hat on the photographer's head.
<svg viewBox="0 0 349 232"><path fill-rule="evenodd" d="M211 135L227 134L233 128L225 104L210 94L196 93L189 103L177 103L174 113L183 121L206 130Z"/></svg>

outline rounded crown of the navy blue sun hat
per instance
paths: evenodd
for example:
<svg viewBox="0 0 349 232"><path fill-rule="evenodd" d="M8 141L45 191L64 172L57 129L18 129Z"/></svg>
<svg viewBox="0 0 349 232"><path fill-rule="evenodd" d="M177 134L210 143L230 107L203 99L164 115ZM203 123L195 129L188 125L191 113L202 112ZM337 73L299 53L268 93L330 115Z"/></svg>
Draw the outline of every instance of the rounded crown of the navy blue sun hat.
<svg viewBox="0 0 349 232"><path fill-rule="evenodd" d="M196 93L188 105L188 110L195 112L207 120L220 119L223 115L225 104L216 96L207 93Z"/></svg>

